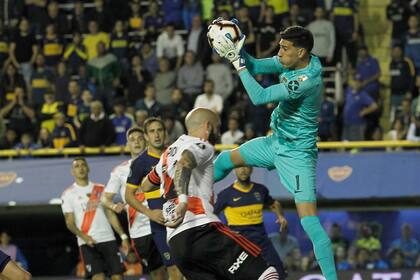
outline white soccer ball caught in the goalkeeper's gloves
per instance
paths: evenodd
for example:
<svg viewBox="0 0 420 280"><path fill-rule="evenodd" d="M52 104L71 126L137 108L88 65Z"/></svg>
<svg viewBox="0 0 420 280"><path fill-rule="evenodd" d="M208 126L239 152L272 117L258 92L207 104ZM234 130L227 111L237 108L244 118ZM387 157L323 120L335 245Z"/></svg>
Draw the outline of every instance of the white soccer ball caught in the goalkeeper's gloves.
<svg viewBox="0 0 420 280"><path fill-rule="evenodd" d="M220 43L223 37L237 43L242 38L242 32L234 22L218 18L208 27L207 39L210 47L214 48L214 45Z"/></svg>

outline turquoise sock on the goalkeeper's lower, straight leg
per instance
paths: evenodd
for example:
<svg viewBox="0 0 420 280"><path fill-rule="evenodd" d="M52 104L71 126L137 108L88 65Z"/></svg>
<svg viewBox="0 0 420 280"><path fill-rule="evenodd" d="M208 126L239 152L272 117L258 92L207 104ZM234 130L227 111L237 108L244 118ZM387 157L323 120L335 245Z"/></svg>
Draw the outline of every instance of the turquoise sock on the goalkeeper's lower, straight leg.
<svg viewBox="0 0 420 280"><path fill-rule="evenodd" d="M322 227L319 218L317 216L307 216L302 218L300 223L312 241L316 260L325 279L337 280L331 240Z"/></svg>

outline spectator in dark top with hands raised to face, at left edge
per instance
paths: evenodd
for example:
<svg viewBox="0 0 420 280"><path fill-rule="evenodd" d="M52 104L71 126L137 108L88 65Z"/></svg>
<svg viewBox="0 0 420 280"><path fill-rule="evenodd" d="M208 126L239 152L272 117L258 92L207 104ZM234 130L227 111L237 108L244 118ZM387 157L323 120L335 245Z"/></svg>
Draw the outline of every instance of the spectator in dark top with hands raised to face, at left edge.
<svg viewBox="0 0 420 280"><path fill-rule="evenodd" d="M0 109L0 118L8 120L9 126L18 135L25 132L34 132L35 111L27 105L23 88L15 88L14 99Z"/></svg>

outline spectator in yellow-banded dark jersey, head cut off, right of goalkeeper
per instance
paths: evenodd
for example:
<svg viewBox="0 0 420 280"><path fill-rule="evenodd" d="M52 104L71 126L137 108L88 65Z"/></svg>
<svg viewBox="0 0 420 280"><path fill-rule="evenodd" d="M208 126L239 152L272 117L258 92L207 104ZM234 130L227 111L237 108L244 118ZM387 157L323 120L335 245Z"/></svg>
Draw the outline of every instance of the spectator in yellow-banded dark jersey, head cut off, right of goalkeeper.
<svg viewBox="0 0 420 280"><path fill-rule="evenodd" d="M350 64L354 67L357 59L357 40L359 39L359 17L356 0L333 0L331 21L337 34L335 48L336 61L342 61L345 48Z"/></svg>

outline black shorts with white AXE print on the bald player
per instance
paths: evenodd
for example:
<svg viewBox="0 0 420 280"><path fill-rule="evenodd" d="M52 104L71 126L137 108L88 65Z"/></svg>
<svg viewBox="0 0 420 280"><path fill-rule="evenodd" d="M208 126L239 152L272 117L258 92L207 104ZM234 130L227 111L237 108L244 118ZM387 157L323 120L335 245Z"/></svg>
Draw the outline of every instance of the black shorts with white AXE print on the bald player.
<svg viewBox="0 0 420 280"><path fill-rule="evenodd" d="M189 280L258 279L269 267L257 245L222 223L183 231L171 238L169 247Z"/></svg>

